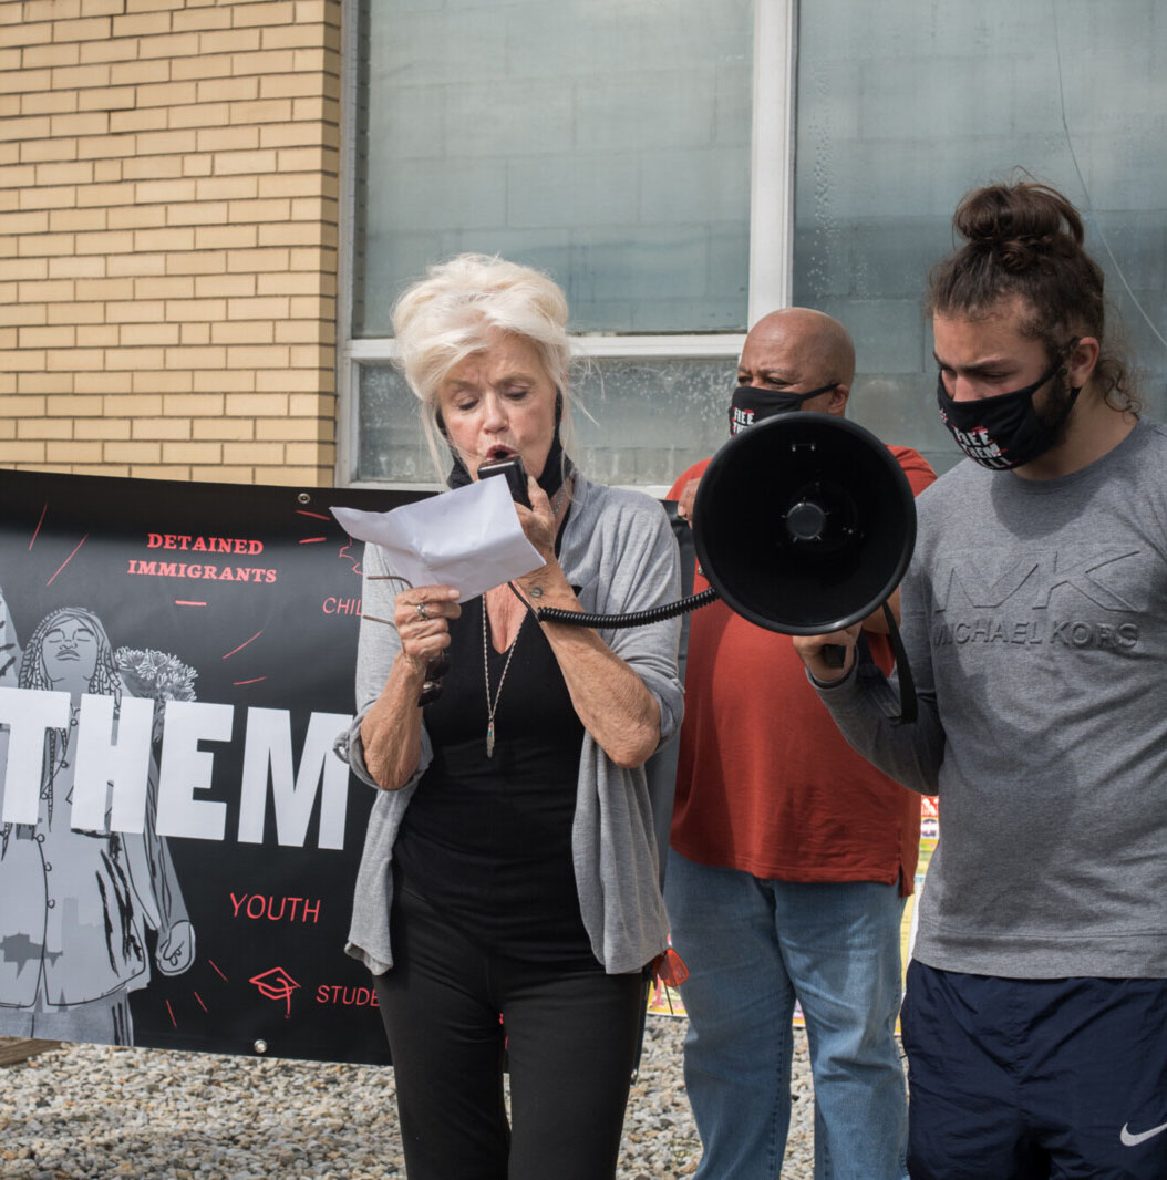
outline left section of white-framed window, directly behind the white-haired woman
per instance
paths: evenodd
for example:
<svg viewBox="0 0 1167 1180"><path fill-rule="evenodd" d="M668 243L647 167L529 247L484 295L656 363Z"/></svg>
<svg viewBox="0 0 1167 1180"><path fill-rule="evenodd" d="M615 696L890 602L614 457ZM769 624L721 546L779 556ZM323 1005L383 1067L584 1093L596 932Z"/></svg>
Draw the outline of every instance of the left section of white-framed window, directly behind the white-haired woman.
<svg viewBox="0 0 1167 1180"><path fill-rule="evenodd" d="M566 293L589 476L661 492L723 441L750 308L787 284L789 11L353 0L342 481L435 484L389 309L464 250Z"/></svg>

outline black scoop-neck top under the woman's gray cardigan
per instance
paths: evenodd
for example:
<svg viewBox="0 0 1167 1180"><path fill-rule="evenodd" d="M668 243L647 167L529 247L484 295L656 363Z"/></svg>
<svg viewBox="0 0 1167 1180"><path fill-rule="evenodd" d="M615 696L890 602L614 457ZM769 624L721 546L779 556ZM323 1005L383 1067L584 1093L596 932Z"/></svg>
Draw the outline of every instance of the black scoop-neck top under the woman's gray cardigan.
<svg viewBox="0 0 1167 1180"><path fill-rule="evenodd" d="M551 645L527 616L487 758L483 598L463 605L450 634L450 671L425 709L433 762L394 845L400 886L496 951L595 963L571 859L584 730ZM507 656L486 650L493 701Z"/></svg>

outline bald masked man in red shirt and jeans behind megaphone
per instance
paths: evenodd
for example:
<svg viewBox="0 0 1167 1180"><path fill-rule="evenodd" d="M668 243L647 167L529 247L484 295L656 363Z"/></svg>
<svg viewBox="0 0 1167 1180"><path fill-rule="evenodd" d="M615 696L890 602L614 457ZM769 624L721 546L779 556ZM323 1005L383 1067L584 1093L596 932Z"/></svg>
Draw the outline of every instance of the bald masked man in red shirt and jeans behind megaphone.
<svg viewBox="0 0 1167 1180"><path fill-rule="evenodd" d="M843 417L853 378L841 323L774 312L746 337L730 433L789 411ZM914 451L891 452L917 494L936 479ZM682 514L708 463L674 485ZM707 584L699 570L694 591ZM696 1180L781 1173L795 999L814 1075L817 1180L904 1180L894 1027L919 798L847 746L789 636L722 602L689 625L666 902L689 968L684 1079L704 1148ZM890 668L886 638L868 641Z"/></svg>

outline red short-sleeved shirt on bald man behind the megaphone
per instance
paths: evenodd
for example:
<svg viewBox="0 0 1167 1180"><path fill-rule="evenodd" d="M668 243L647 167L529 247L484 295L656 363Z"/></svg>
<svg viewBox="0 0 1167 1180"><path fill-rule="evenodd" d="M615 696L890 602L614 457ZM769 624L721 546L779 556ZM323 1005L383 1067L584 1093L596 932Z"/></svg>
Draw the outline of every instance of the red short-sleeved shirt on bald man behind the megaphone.
<svg viewBox="0 0 1167 1180"><path fill-rule="evenodd" d="M936 479L916 451L889 450L914 494ZM669 499L708 464L694 464ZM707 585L697 570L694 592ZM887 641L867 640L889 669ZM776 880L898 878L906 896L919 826L920 796L847 745L788 635L755 627L720 601L693 612L670 840L677 852Z"/></svg>

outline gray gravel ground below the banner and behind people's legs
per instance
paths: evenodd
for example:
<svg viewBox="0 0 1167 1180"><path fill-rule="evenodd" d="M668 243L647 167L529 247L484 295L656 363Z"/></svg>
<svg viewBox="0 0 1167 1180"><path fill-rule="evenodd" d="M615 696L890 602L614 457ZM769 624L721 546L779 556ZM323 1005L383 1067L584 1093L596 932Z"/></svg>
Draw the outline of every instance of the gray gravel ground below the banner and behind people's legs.
<svg viewBox="0 0 1167 1180"><path fill-rule="evenodd" d="M686 1022L650 1015L621 1180L691 1174L701 1145L681 1079ZM785 1180L811 1180L813 1102L795 1034ZM64 1044L0 1069L4 1180L382 1180L405 1175L393 1071Z"/></svg>

